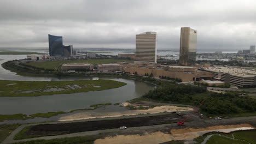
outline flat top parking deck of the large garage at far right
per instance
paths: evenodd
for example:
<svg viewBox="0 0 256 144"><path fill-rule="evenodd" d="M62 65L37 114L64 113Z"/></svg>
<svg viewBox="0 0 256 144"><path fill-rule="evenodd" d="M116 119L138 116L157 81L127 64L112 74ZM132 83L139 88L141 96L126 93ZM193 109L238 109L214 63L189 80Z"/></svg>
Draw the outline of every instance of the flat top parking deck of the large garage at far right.
<svg viewBox="0 0 256 144"><path fill-rule="evenodd" d="M217 73L228 73L230 75L240 76L240 77L254 77L256 76L256 70L253 69L242 69L235 67L211 67L205 70L217 72Z"/></svg>

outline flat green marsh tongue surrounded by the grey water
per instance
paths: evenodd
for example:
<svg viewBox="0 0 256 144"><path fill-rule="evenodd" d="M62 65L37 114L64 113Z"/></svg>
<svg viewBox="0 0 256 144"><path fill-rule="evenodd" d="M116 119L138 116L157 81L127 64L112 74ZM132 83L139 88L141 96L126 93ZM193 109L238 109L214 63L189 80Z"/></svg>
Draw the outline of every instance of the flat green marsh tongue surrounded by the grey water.
<svg viewBox="0 0 256 144"><path fill-rule="evenodd" d="M0 80L0 97L34 97L63 93L101 91L126 85L113 80L5 81Z"/></svg>

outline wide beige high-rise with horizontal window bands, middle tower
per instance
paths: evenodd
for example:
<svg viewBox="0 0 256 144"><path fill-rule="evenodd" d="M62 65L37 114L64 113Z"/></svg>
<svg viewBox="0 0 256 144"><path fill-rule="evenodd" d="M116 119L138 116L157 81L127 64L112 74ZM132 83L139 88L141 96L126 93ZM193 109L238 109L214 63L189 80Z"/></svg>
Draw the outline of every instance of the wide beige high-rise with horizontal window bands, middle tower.
<svg viewBox="0 0 256 144"><path fill-rule="evenodd" d="M156 63L157 41L156 32L136 34L135 61Z"/></svg>

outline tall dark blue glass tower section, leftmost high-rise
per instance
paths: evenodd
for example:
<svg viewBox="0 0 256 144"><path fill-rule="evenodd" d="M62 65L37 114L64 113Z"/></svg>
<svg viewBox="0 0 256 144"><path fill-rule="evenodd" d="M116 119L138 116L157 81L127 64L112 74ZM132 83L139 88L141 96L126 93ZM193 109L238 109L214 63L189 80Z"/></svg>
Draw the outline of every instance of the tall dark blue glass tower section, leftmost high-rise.
<svg viewBox="0 0 256 144"><path fill-rule="evenodd" d="M48 34L48 39L50 56L64 56L62 37Z"/></svg>

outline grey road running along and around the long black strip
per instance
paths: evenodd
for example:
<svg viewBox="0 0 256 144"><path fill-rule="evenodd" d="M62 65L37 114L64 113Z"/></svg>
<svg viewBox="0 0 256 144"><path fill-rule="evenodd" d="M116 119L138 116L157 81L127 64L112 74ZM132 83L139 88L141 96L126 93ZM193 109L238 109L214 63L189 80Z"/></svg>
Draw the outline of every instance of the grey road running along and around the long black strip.
<svg viewBox="0 0 256 144"><path fill-rule="evenodd" d="M50 140L50 139L56 139L56 138L63 138L63 137L75 137L75 136L89 136L89 135L97 135L97 134L103 134L103 133L122 133L125 131L125 133L135 133L135 131L150 131L150 130L169 130L170 129L179 129L179 128L204 128L204 127L210 127L213 125L228 125L228 124L242 124L242 123L249 123L252 124L254 127L256 127L256 116L253 117L236 117L236 118L228 118L228 119L222 119L220 121L216 121L214 119L201 119L197 116L197 114L194 114L191 116L191 118L194 121L191 122L185 122L185 125L180 127L176 123L172 124L160 124L160 125L150 125L150 126L144 126L144 127L132 127L127 128L125 130L120 129L106 129L106 130L95 130L95 131L84 131L81 133L72 133L72 134L65 134L65 135L56 135L56 136L43 136L43 137L35 137L32 139L23 139L23 140L13 140L13 137L19 133L20 130L22 130L24 127L28 125L37 125L36 124L25 124L21 125L19 128L13 131L10 136L5 139L2 144L8 144L13 142L21 142L21 141L30 141L30 140ZM61 123L61 122L53 122L53 123Z"/></svg>

